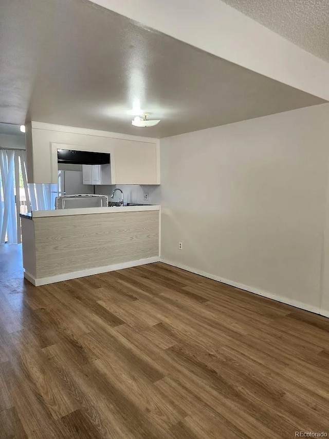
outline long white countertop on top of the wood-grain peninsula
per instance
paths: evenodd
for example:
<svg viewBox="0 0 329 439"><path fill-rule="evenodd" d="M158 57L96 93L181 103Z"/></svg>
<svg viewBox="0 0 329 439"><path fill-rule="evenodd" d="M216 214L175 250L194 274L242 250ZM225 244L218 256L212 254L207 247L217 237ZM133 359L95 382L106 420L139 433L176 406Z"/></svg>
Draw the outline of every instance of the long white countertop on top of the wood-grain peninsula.
<svg viewBox="0 0 329 439"><path fill-rule="evenodd" d="M78 209L34 210L32 215L21 215L23 218L63 217L71 215L116 214L118 212L143 212L144 210L160 210L155 206L115 206L115 207L84 207Z"/></svg>

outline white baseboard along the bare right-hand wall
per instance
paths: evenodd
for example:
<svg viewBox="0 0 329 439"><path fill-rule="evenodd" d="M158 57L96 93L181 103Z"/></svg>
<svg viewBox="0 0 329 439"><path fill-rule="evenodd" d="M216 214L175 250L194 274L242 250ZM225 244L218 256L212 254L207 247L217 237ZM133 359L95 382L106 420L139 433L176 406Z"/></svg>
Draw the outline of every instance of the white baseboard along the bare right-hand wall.
<svg viewBox="0 0 329 439"><path fill-rule="evenodd" d="M314 312L316 314L321 314L324 317L329 318L329 311L324 311L320 309L317 306L308 305L304 302L299 302L294 299L290 299L289 297L285 296L279 296L277 294L270 293L268 291L262 291L257 288L249 287L248 285L239 284L237 282L233 282L233 280L224 279L220 276L215 276L213 274L207 273L205 271L197 270L191 267L188 267L183 264L179 264L177 262L172 262L166 258L160 258L160 261L163 262L163 264L168 264L173 267L181 268L182 270L190 271L191 273L199 274L200 276L208 277L209 279L217 280L217 282L222 282L223 284L230 285L231 287L239 288L240 290L245 290L250 293L258 294L263 297L267 297L269 299L275 300L277 302L285 303L286 305L291 305L296 308L304 309L306 311Z"/></svg>

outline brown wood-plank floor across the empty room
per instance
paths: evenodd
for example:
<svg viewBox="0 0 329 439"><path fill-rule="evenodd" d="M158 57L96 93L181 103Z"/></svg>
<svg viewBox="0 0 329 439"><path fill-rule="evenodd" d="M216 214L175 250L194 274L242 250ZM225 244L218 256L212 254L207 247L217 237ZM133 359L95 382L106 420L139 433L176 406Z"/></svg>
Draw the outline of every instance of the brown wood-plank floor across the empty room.
<svg viewBox="0 0 329 439"><path fill-rule="evenodd" d="M329 434L328 319L161 263L38 288L19 264L0 250L1 438Z"/></svg>

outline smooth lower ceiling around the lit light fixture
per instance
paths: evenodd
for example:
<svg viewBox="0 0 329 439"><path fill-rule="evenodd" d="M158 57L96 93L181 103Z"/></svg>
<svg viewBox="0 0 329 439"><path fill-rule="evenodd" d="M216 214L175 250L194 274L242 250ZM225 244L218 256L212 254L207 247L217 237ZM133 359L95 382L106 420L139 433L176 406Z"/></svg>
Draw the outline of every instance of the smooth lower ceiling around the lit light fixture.
<svg viewBox="0 0 329 439"><path fill-rule="evenodd" d="M0 2L0 122L152 137L324 102L85 0ZM161 119L131 125L136 100Z"/></svg>

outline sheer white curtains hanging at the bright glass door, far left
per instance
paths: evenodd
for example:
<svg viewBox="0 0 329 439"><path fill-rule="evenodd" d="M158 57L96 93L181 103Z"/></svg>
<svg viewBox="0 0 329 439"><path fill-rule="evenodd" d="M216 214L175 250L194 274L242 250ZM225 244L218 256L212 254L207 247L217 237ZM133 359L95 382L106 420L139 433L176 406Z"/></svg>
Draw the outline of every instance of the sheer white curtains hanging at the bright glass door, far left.
<svg viewBox="0 0 329 439"><path fill-rule="evenodd" d="M27 183L25 151L0 149L0 244L20 243L20 213L53 209L57 190Z"/></svg>

